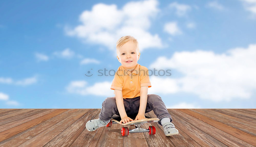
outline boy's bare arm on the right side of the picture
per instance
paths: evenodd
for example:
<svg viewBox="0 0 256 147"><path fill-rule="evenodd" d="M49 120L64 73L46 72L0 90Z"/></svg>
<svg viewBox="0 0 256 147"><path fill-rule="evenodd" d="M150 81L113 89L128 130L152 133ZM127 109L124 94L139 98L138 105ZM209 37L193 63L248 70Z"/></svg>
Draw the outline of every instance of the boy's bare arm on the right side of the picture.
<svg viewBox="0 0 256 147"><path fill-rule="evenodd" d="M145 110L147 106L147 91L148 86L142 86L140 90L140 108L138 115L134 120L145 119Z"/></svg>

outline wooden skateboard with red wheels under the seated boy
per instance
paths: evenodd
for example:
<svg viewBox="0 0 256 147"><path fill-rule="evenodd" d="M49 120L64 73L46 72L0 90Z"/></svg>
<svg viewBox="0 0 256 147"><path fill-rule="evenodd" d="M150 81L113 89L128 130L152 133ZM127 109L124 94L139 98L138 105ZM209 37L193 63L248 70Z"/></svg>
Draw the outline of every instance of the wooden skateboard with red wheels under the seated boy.
<svg viewBox="0 0 256 147"><path fill-rule="evenodd" d="M111 127L111 125L114 123L118 123L123 126L134 125L135 129L132 129L132 130L129 130L128 127L122 127L122 129L121 129L122 136L128 136L129 133L139 133L139 132L148 132L148 134L154 135L156 133L156 128L154 126L149 126L148 129L143 129L143 128L141 128L141 125L143 125L144 123L158 122L159 119L151 118L148 116L145 116L145 117L146 117L146 119L141 119L141 120L134 120L135 118L131 118L134 121L130 121L127 123L120 123L121 117L118 115L113 115L110 122L108 123L108 125L106 125L106 127Z"/></svg>

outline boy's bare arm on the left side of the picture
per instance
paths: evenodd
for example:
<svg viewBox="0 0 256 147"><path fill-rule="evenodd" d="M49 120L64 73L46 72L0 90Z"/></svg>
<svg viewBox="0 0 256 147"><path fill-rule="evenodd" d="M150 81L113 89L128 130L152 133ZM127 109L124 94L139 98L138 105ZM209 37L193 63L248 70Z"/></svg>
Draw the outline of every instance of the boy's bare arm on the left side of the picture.
<svg viewBox="0 0 256 147"><path fill-rule="evenodd" d="M120 122L126 123L133 121L130 117L127 117L127 114L125 112L123 93L121 90L115 89L115 102L122 119Z"/></svg>

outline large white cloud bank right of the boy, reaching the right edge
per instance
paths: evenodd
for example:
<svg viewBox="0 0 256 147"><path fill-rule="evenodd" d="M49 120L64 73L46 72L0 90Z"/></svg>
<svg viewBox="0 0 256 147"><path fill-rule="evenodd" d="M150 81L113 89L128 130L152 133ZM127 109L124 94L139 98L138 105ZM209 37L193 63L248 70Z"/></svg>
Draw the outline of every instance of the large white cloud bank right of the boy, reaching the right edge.
<svg viewBox="0 0 256 147"><path fill-rule="evenodd" d="M248 99L256 89L255 56L256 44L250 44L248 48L230 49L222 54L183 51L175 52L170 59L159 57L150 68L177 70L183 75L180 78L162 79L161 82L167 82L155 87L158 92L194 93L212 101ZM160 81L152 77L152 82L156 80Z"/></svg>

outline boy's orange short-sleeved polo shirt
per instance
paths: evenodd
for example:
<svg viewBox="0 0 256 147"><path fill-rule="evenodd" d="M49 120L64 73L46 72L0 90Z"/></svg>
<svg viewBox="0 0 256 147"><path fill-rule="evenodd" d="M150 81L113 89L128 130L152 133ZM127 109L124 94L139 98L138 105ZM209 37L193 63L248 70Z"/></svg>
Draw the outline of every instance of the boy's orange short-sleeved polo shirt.
<svg viewBox="0 0 256 147"><path fill-rule="evenodd" d="M141 86L151 87L148 69L137 63L133 72L127 71L121 65L115 73L110 89L118 89L123 93L123 98L140 96Z"/></svg>

